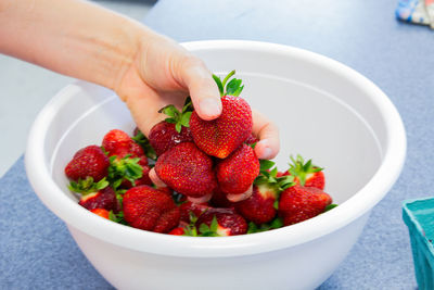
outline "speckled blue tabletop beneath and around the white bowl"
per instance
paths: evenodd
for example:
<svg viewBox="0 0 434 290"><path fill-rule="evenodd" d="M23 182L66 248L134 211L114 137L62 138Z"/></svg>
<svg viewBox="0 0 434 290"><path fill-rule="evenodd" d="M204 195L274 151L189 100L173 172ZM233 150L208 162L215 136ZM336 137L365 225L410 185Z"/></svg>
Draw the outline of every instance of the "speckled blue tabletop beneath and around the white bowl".
<svg viewBox="0 0 434 290"><path fill-rule="evenodd" d="M161 0L144 20L178 41L248 39L324 54L373 80L398 109L408 137L404 172L321 290L417 287L401 201L432 194L434 31L396 21L395 8L392 0ZM111 289L39 202L23 159L0 179L0 197L1 289Z"/></svg>

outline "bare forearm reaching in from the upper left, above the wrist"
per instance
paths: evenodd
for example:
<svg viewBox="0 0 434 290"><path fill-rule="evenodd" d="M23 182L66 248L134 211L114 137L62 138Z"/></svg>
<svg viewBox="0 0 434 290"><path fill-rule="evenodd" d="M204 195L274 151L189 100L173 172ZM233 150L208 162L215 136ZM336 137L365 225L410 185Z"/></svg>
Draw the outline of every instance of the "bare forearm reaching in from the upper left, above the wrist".
<svg viewBox="0 0 434 290"><path fill-rule="evenodd" d="M79 0L0 0L0 52L115 88L153 33Z"/></svg>

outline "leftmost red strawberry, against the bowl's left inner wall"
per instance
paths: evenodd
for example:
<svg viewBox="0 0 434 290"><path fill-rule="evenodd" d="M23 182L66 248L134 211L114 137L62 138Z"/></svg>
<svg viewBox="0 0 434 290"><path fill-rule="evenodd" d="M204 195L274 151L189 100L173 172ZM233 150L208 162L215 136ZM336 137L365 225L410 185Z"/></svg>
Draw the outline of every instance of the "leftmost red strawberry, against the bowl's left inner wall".
<svg viewBox="0 0 434 290"><path fill-rule="evenodd" d="M107 175L110 166L108 157L98 146L88 146L75 153L65 167L66 176L74 180L92 177L98 182Z"/></svg>

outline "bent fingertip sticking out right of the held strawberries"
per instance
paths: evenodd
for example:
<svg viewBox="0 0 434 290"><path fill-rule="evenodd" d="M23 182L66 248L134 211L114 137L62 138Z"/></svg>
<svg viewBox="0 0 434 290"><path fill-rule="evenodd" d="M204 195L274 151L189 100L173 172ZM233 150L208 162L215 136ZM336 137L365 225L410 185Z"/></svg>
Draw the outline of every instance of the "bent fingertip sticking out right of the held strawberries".
<svg viewBox="0 0 434 290"><path fill-rule="evenodd" d="M276 157L280 150L279 128L259 112L252 110L252 113L253 135L259 139L255 146L256 155L266 160Z"/></svg>

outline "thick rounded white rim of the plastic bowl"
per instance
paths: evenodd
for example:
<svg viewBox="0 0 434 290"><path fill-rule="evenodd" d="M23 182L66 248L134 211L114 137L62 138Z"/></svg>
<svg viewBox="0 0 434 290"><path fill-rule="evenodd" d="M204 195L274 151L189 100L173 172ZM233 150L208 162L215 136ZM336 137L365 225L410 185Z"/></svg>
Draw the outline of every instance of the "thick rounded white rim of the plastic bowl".
<svg viewBox="0 0 434 290"><path fill-rule="evenodd" d="M28 179L39 199L67 226L74 227L88 236L116 244L122 248L161 255L189 257L224 257L259 254L284 248L295 247L336 231L370 210L387 193L398 178L405 162L407 141L403 121L398 111L371 80L353 68L304 49L284 45L250 40L203 40L181 43L186 49L215 50L234 49L281 53L314 62L320 66L357 83L371 97L380 109L386 127L386 146L383 162L368 181L352 198L340 206L321 216L303 223L279 228L272 231L233 237L182 237L144 231L116 223L107 222L77 203L74 203L52 180L50 164L44 157L44 137L47 127L55 115L55 109L66 100L72 88L89 86L85 81L68 85L56 93L38 114L30 129L25 153L25 166ZM95 86L95 85L92 85ZM71 93L69 93L71 94ZM38 166L35 164L43 164ZM40 167L43 167L42 169ZM117 235L114 235L117 234Z"/></svg>

